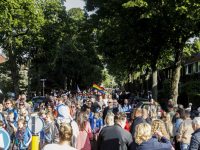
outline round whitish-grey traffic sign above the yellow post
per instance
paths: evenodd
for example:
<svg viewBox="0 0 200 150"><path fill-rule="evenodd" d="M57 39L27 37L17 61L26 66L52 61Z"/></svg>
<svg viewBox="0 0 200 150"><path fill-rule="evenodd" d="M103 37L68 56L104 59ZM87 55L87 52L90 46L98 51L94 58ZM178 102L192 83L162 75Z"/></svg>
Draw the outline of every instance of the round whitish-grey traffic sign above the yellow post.
<svg viewBox="0 0 200 150"><path fill-rule="evenodd" d="M40 133L44 127L44 120L40 116L32 116L27 122L28 129L34 133Z"/></svg>

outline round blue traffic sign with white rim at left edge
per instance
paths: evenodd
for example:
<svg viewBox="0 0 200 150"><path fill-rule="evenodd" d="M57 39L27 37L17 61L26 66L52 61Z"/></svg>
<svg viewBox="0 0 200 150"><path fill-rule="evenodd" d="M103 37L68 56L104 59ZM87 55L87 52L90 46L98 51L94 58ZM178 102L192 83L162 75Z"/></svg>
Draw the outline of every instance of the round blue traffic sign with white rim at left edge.
<svg viewBox="0 0 200 150"><path fill-rule="evenodd" d="M9 149L10 147L10 135L4 129L0 129L0 148L5 150Z"/></svg>

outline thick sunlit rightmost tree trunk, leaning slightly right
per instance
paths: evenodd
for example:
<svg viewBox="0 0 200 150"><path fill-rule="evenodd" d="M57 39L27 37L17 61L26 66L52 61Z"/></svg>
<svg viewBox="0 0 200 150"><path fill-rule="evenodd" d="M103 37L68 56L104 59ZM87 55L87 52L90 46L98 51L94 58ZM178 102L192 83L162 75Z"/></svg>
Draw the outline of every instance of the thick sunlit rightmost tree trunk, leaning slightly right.
<svg viewBox="0 0 200 150"><path fill-rule="evenodd" d="M183 48L180 47L179 51L176 52L176 57L174 62L174 71L172 77L172 100L174 102L174 105L177 104L177 99L178 99L178 83L180 80L182 50Z"/></svg>

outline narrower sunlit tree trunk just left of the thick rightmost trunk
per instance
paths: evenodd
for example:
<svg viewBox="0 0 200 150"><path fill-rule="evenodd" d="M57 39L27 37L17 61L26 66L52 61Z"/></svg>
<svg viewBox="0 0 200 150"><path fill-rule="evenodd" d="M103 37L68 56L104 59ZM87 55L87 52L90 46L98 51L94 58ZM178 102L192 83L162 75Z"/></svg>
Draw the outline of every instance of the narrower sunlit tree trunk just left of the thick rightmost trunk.
<svg viewBox="0 0 200 150"><path fill-rule="evenodd" d="M152 68L152 76L153 76L152 97L155 101L157 101L157 92L158 92L157 61L152 64L151 68Z"/></svg>

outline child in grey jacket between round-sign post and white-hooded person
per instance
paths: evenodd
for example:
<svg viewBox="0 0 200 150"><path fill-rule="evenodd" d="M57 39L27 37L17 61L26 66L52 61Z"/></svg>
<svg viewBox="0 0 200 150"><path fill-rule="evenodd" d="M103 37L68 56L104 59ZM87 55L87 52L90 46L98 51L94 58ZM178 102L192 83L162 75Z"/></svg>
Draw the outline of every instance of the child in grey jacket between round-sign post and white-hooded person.
<svg viewBox="0 0 200 150"><path fill-rule="evenodd" d="M58 143L58 129L54 122L54 115L50 112L46 114L46 125L43 127L45 144Z"/></svg>

